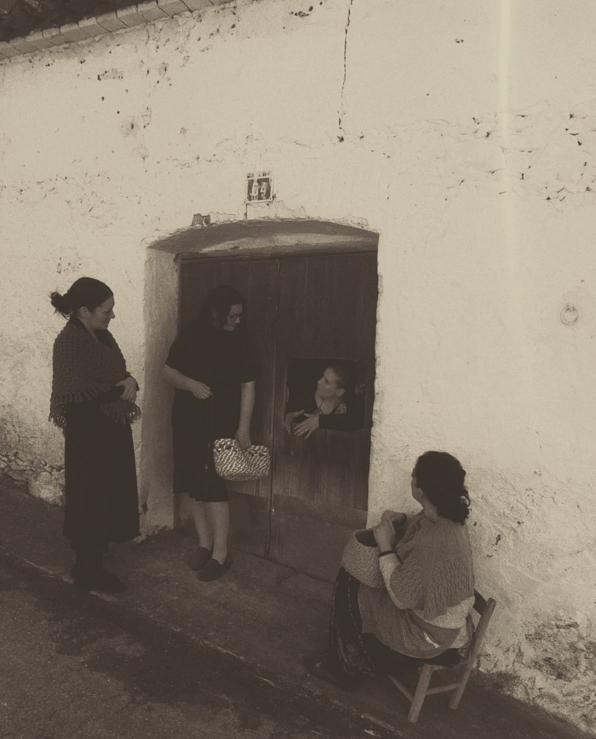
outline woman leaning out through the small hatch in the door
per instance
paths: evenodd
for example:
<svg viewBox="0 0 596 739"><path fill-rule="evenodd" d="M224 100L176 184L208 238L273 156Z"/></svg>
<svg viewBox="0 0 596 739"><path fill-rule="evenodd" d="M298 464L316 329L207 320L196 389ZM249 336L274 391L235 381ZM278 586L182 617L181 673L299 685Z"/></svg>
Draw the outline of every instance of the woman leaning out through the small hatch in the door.
<svg viewBox="0 0 596 739"><path fill-rule="evenodd" d="M288 388L284 426L288 434L308 439L318 429L356 431L362 419L356 412L355 379L348 364L331 364L316 387Z"/></svg>

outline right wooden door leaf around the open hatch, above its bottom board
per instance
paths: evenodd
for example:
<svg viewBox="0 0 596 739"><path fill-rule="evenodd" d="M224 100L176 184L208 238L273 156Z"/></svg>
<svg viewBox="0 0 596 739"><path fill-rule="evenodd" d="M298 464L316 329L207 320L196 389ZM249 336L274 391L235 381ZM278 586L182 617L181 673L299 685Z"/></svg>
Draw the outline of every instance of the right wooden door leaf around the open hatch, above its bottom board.
<svg viewBox="0 0 596 739"><path fill-rule="evenodd" d="M372 418L376 256L352 254L280 263L274 492L339 508L366 510L370 432L316 432L310 439L280 432L285 377L292 357L365 364L365 419ZM291 330L290 328L291 327Z"/></svg>

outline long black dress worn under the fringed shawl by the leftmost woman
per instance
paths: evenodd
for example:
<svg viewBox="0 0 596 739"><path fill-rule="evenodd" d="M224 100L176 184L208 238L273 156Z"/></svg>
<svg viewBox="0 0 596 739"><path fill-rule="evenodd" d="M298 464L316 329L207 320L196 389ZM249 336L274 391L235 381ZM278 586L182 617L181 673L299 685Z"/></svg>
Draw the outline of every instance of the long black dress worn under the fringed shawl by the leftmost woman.
<svg viewBox="0 0 596 739"><path fill-rule="evenodd" d="M77 319L71 319L87 331ZM102 331L95 335L107 342ZM74 542L126 542L139 536L135 449L129 423L100 409L124 392L115 386L98 398L67 406L64 429L66 505L64 536Z"/></svg>

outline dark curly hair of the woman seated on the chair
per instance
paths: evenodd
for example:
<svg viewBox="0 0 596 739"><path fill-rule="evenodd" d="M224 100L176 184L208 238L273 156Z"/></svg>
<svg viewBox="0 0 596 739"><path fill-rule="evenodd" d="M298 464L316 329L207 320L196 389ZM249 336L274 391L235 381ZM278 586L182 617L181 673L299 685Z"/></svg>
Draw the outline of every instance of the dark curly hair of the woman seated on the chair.
<svg viewBox="0 0 596 739"><path fill-rule="evenodd" d="M463 525L470 514L470 495L459 460L447 452L424 452L416 460L414 474L416 486L436 505L438 515Z"/></svg>

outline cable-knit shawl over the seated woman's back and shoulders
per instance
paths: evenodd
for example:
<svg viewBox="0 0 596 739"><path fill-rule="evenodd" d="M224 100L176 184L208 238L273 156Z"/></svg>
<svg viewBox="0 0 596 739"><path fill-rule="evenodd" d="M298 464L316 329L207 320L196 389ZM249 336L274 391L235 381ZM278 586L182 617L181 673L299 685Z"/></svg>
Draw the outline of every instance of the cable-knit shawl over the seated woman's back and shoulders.
<svg viewBox="0 0 596 739"><path fill-rule="evenodd" d="M400 564L391 587L405 607L432 621L474 594L472 548L467 527L419 513L396 548Z"/></svg>

